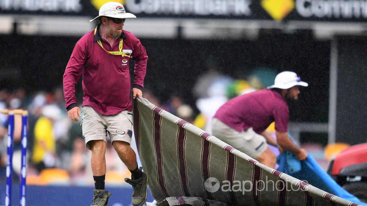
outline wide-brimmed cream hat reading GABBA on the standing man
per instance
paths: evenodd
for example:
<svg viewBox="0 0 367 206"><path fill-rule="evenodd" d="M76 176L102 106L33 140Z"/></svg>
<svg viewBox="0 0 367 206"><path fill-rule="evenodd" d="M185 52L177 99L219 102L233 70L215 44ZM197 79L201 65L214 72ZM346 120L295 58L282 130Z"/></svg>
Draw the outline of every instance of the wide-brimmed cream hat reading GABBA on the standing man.
<svg viewBox="0 0 367 206"><path fill-rule="evenodd" d="M102 16L108 16L119 19L137 18L134 14L126 13L126 10L122 4L113 1L103 4L99 9L99 15L96 18L90 20L90 22L99 20L99 18L101 18Z"/></svg>

